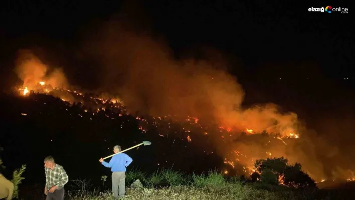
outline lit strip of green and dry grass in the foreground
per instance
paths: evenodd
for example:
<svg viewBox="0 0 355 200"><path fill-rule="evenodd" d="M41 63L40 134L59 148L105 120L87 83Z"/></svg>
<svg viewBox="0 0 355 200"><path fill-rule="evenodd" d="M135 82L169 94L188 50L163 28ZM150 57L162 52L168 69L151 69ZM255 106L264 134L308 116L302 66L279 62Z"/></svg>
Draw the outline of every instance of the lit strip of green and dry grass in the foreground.
<svg viewBox="0 0 355 200"><path fill-rule="evenodd" d="M142 184L131 184L136 179L140 179ZM87 192L82 189L69 192L67 199L114 198L111 191ZM314 199L314 192L295 191L288 187L263 183L246 183L238 178L227 180L216 171L210 171L206 176L193 174L187 177L172 170L156 172L149 177L139 171L130 171L126 175L124 199Z"/></svg>

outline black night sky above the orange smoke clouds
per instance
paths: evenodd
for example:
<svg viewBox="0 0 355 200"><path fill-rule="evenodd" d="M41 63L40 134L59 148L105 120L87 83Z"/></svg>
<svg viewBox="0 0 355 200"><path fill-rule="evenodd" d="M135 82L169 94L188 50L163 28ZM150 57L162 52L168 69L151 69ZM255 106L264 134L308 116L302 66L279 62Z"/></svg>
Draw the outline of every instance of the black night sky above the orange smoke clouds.
<svg viewBox="0 0 355 200"><path fill-rule="evenodd" d="M281 87L277 82L279 77L283 81L291 80L283 86L288 90L294 85L292 81L299 79L329 79L329 86L345 77L355 80L352 8L347 3L335 3L135 0L127 4L117 0L4 0L0 6L0 83L7 88L17 78L12 70L19 49L41 48L37 53L45 52L50 64L63 67L71 84L84 88L96 85L100 81L95 82L100 66L88 58L78 60L77 50L85 33L94 32L93 27L123 16L137 30L150 30L164 37L178 56L195 53L196 47L203 45L222 51L232 63L229 71L247 90L247 99L282 103L283 95L279 99L259 95L262 91L275 91L275 88L263 88L265 82ZM349 13L308 12L309 7L328 4L348 7ZM341 82L340 85L349 84ZM298 86L298 90L309 89L308 94L319 87L327 88L314 85L310 89L308 83ZM319 99L327 98L326 90L318 95ZM337 88L334 91L340 93ZM293 92L287 97L302 95Z"/></svg>

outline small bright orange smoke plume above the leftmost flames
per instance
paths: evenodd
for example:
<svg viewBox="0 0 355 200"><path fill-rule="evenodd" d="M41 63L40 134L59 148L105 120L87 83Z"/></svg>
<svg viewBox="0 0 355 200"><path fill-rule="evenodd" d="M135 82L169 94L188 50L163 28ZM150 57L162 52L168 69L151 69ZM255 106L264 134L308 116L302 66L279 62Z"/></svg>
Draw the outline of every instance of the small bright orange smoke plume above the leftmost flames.
<svg viewBox="0 0 355 200"><path fill-rule="evenodd" d="M20 50L15 62L15 72L29 90L39 88L40 82L57 88L67 88L68 82L62 69L49 68L30 50Z"/></svg>

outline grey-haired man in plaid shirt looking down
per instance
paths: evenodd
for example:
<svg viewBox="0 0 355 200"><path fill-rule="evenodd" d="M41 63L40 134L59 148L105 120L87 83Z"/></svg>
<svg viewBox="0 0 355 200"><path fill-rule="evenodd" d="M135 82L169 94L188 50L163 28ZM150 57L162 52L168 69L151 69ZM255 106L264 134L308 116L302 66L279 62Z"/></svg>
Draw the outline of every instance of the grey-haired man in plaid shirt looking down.
<svg viewBox="0 0 355 200"><path fill-rule="evenodd" d="M63 200L64 199L64 185L68 182L68 175L63 167L54 162L52 156L44 159L46 186L45 194L46 200Z"/></svg>

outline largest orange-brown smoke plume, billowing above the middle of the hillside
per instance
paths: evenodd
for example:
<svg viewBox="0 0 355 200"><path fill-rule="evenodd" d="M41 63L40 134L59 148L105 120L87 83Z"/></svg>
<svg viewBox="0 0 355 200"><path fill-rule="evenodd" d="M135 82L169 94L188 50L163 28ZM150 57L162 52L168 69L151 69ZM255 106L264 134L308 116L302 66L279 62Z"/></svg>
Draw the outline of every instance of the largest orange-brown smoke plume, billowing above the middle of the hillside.
<svg viewBox="0 0 355 200"><path fill-rule="evenodd" d="M216 58L180 59L162 40L108 23L85 45L103 66L102 86L119 92L125 105L154 116L198 117L234 130L297 133L297 115L273 104L242 108L244 91Z"/></svg>

